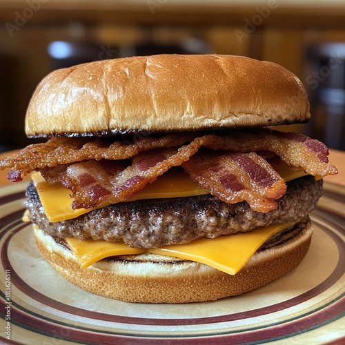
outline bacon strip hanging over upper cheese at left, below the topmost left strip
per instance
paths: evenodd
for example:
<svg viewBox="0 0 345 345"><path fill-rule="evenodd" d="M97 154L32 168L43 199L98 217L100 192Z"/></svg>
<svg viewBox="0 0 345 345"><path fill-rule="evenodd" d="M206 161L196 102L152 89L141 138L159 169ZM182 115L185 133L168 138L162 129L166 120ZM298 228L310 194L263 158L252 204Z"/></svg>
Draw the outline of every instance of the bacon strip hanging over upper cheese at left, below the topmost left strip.
<svg viewBox="0 0 345 345"><path fill-rule="evenodd" d="M97 161L72 164L66 172L72 181L72 208L95 208L104 202L126 201L172 166L180 166L198 148L193 142L179 149L157 148L140 152L132 157L132 165L114 175L106 175L101 169L97 175L100 164Z"/></svg>

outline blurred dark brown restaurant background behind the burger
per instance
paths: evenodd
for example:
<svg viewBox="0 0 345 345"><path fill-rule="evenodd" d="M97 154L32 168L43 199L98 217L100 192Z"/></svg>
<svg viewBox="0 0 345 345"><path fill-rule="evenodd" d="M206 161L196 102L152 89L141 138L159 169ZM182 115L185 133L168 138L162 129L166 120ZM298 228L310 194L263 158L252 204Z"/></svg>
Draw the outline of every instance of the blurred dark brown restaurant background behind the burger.
<svg viewBox="0 0 345 345"><path fill-rule="evenodd" d="M293 130L345 150L344 0L0 0L0 27L0 150L34 142L26 108L50 71L160 53L279 63L311 102L313 120Z"/></svg>

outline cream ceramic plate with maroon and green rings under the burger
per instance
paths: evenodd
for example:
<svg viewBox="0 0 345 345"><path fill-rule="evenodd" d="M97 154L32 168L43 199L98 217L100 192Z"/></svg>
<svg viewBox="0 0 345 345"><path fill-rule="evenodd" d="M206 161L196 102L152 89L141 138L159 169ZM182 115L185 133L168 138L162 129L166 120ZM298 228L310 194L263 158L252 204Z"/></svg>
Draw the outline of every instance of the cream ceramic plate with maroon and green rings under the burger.
<svg viewBox="0 0 345 345"><path fill-rule="evenodd" d="M70 284L23 223L26 184L0 188L0 337L23 344L324 344L345 342L345 188L324 184L302 263L239 297L131 304Z"/></svg>

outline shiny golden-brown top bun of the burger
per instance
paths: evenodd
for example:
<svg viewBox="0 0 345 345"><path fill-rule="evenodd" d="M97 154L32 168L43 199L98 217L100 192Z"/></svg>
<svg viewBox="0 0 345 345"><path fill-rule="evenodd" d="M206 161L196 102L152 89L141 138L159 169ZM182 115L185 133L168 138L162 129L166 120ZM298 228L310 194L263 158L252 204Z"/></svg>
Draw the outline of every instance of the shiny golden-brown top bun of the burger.
<svg viewBox="0 0 345 345"><path fill-rule="evenodd" d="M275 63L226 55L155 55L50 73L30 101L26 134L177 132L309 118L302 83Z"/></svg>

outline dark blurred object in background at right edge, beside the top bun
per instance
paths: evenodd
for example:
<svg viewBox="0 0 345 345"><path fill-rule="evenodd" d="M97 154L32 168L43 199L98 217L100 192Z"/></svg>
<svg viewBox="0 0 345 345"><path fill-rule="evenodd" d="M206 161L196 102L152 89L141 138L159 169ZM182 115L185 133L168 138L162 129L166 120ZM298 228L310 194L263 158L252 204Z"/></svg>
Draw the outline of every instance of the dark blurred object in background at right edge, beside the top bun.
<svg viewBox="0 0 345 345"><path fill-rule="evenodd" d="M307 57L311 135L345 150L345 43L312 46Z"/></svg>

